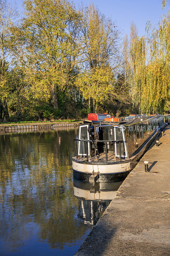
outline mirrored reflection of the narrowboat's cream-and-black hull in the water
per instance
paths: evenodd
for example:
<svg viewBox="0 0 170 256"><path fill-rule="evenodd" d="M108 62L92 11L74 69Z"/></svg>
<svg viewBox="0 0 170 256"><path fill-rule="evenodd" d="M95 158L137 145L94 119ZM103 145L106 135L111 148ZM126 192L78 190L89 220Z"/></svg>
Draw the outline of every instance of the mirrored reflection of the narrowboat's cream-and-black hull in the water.
<svg viewBox="0 0 170 256"><path fill-rule="evenodd" d="M88 182L73 180L74 195L78 197L78 218L95 225L113 198L121 182Z"/></svg>

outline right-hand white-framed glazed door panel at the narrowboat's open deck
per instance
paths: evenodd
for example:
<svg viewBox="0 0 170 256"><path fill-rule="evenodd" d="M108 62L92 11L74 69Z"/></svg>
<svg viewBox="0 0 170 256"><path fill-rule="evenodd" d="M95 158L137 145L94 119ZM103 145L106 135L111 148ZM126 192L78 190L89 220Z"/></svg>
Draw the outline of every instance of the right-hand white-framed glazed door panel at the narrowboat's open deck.
<svg viewBox="0 0 170 256"><path fill-rule="evenodd" d="M115 133L115 140L123 140L121 142L121 156L128 157L123 127L114 126L114 133ZM120 157L119 142L115 142L115 156Z"/></svg>

